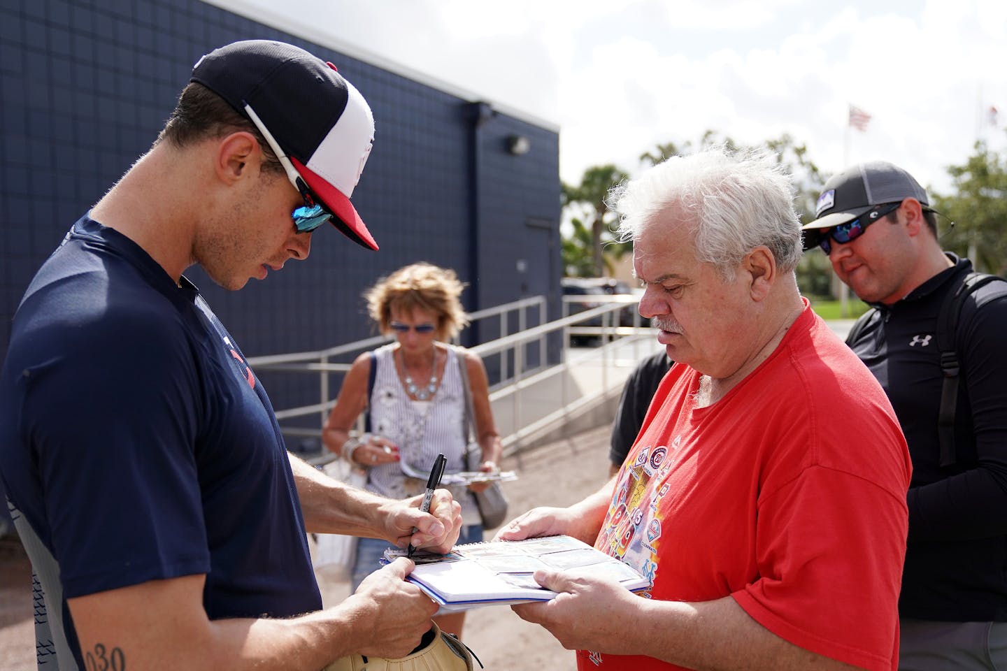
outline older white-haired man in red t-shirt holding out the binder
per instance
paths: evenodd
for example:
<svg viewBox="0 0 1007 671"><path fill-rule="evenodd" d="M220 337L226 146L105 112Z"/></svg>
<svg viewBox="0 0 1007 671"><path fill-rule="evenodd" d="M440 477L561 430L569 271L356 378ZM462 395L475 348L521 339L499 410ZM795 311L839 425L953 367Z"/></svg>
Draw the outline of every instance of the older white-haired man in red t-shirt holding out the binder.
<svg viewBox="0 0 1007 671"><path fill-rule="evenodd" d="M577 570L513 607L581 670L897 664L909 457L888 399L798 291L793 188L773 157L674 157L616 194L676 361L619 471L498 538L566 533L652 578Z"/></svg>

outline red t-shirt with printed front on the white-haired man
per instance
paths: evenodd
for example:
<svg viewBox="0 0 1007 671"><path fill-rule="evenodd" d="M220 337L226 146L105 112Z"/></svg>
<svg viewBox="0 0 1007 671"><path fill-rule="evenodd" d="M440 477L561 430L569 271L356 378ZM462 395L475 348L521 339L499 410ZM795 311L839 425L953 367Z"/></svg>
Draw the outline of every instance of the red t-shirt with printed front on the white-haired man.
<svg viewBox="0 0 1007 671"><path fill-rule="evenodd" d="M699 379L676 364L662 382L596 546L651 576L652 599L731 596L795 645L895 669L911 467L884 391L808 307L723 398L696 407ZM681 668L583 650L577 665Z"/></svg>

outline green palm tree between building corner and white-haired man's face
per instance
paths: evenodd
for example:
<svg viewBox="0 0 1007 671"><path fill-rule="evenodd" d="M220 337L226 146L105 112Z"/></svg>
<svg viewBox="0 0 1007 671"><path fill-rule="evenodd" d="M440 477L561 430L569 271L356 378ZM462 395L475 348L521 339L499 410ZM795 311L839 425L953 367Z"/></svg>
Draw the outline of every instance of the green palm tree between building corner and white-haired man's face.
<svg viewBox="0 0 1007 671"><path fill-rule="evenodd" d="M608 209L605 199L612 187L628 177L621 168L613 164L599 165L588 168L581 177L580 184L562 186L562 205L568 211L579 212L582 216L571 216L574 222L574 235L563 241L563 265L567 269L576 269L583 277L600 277L606 270L610 272L611 262L606 261L603 246L612 244L624 247L624 244L614 242L612 224L615 215ZM578 228L579 226L579 228ZM583 235L590 231L590 243L585 249ZM569 244L568 244L569 242ZM589 253L590 266L584 264L584 255ZM621 256L619 251L615 251ZM587 272L585 272L587 271ZM570 270L568 270L568 273Z"/></svg>

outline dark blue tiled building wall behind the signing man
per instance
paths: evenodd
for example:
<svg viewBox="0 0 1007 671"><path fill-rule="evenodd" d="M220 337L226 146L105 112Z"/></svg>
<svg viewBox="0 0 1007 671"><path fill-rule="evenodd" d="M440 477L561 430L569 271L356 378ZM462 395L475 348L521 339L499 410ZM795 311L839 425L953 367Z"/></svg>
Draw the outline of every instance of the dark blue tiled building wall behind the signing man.
<svg viewBox="0 0 1007 671"><path fill-rule="evenodd" d="M555 129L198 0L3 0L0 354L35 270L149 148L192 64L217 46L249 38L288 41L331 60L371 104L375 145L353 203L381 245L369 251L334 228L319 230L310 259L290 262L239 294L190 269L186 276L249 356L373 335L362 293L416 261L455 269L469 284L462 297L469 311L558 296ZM531 151L511 154L512 135L527 137ZM494 325L481 329L464 342L493 337ZM267 379L277 406L317 400L317 380L298 379Z"/></svg>

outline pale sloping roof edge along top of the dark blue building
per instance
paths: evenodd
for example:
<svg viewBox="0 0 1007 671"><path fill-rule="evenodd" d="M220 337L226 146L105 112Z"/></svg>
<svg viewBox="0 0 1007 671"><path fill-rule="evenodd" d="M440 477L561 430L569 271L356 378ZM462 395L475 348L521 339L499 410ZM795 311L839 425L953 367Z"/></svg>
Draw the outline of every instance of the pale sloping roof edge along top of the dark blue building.
<svg viewBox="0 0 1007 671"><path fill-rule="evenodd" d="M345 53L347 56L352 56L353 58L363 60L371 65L381 67L382 69L386 69L395 74L412 79L413 81L437 89L438 91L460 98L464 101L468 101L470 103L486 103L496 112L501 112L534 126L539 126L547 131L552 131L557 134L560 132L559 124L556 124L555 122L547 121L509 105L497 103L496 101L486 100L484 97L471 91L462 89L461 87L457 87L443 79L439 79L431 74L421 72L420 70L392 60L391 58L383 56L375 51L370 51L364 47L357 46L356 44L351 44L335 35L332 35L330 32L319 28L317 25L300 20L296 17L281 14L266 7L252 6L246 4L244 0L201 0L201 2L227 10L234 14L239 14L245 18L252 19L253 21L258 21L271 28L276 28L277 30L290 33L291 35L297 35L298 37L302 37L320 46Z"/></svg>

